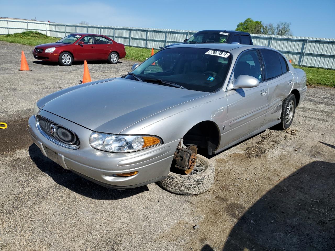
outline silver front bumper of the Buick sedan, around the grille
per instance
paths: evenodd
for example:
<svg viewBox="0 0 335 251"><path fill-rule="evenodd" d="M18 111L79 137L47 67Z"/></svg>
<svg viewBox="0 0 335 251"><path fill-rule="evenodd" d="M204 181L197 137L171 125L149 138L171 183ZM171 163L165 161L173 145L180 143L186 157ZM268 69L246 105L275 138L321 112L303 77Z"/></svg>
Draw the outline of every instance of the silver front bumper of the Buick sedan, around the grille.
<svg viewBox="0 0 335 251"><path fill-rule="evenodd" d="M88 139L91 130L57 115L41 110L47 117L75 132L80 139L78 149L68 149L47 139L37 128L36 117L28 120L31 139L43 155L84 178L100 185L125 189L163 180L167 177L179 140L131 153L110 153L92 148ZM138 171L134 176L120 177L117 173Z"/></svg>

